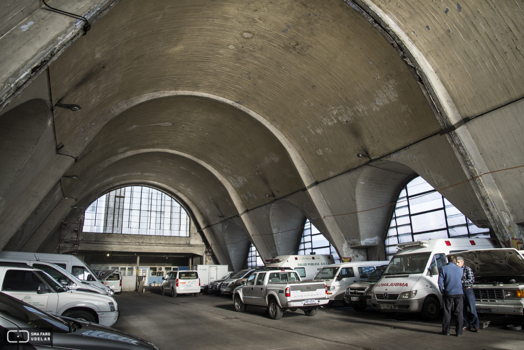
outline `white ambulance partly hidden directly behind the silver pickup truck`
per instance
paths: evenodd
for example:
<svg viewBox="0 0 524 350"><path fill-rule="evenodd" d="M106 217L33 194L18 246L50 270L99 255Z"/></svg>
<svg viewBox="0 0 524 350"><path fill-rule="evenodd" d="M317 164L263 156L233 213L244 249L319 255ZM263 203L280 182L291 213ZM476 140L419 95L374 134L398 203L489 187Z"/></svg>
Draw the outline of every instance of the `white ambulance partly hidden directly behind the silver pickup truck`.
<svg viewBox="0 0 524 350"><path fill-rule="evenodd" d="M333 255L281 255L266 259L266 268L289 267L298 272L302 281L311 281L326 265L335 264Z"/></svg>

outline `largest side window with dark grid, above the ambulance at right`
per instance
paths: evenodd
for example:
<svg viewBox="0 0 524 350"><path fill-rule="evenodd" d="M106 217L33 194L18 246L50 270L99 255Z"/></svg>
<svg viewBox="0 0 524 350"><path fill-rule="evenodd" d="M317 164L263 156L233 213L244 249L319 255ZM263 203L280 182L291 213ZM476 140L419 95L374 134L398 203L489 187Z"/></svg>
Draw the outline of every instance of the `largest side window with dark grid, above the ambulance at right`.
<svg viewBox="0 0 524 350"><path fill-rule="evenodd" d="M489 228L475 226L421 177L400 192L385 241L386 258L398 243L452 237L490 237Z"/></svg>

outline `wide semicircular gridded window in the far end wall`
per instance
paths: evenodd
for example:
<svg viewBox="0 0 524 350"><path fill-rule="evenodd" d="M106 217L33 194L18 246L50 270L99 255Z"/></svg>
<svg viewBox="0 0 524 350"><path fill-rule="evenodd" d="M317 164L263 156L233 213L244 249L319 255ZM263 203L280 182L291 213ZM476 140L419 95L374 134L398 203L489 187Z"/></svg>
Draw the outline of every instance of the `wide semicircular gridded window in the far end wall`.
<svg viewBox="0 0 524 350"><path fill-rule="evenodd" d="M166 193L145 186L123 187L85 210L83 231L189 237L189 216Z"/></svg>

